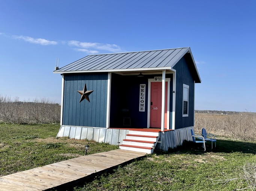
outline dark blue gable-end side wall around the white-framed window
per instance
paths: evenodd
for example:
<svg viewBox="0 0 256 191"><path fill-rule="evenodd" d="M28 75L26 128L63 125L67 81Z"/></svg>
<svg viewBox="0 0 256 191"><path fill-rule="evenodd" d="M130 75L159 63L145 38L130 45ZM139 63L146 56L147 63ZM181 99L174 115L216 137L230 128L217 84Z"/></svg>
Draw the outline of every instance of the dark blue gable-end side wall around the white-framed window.
<svg viewBox="0 0 256 191"><path fill-rule="evenodd" d="M194 79L190 72L192 63L184 56L173 67L176 70L175 129L194 126ZM183 117L183 84L189 85L189 116Z"/></svg>

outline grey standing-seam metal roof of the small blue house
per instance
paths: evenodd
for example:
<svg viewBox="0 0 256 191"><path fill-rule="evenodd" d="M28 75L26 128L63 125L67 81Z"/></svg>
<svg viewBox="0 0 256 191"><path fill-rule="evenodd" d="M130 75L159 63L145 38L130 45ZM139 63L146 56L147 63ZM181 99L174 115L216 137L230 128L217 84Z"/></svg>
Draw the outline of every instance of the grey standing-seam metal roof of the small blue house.
<svg viewBox="0 0 256 191"><path fill-rule="evenodd" d="M170 70L186 53L190 53L196 69L191 50L189 47L186 47L125 53L93 54L57 69L54 73ZM198 74L197 69L196 73Z"/></svg>

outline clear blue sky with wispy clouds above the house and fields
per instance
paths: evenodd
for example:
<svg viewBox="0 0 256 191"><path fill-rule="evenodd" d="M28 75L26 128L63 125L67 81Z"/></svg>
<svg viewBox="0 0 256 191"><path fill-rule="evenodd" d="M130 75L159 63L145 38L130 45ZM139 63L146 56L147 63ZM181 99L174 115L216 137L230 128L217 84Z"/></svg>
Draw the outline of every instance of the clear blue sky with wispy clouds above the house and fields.
<svg viewBox="0 0 256 191"><path fill-rule="evenodd" d="M88 54L191 47L195 109L256 112L256 1L0 0L0 95L61 100Z"/></svg>

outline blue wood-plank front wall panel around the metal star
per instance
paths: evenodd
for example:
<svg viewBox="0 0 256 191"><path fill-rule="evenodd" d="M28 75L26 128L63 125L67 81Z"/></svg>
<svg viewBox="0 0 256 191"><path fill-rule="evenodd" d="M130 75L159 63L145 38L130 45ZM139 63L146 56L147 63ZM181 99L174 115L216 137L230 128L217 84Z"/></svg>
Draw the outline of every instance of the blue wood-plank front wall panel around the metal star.
<svg viewBox="0 0 256 191"><path fill-rule="evenodd" d="M77 90L93 90L87 100L79 103ZM108 73L65 74L63 125L106 127Z"/></svg>

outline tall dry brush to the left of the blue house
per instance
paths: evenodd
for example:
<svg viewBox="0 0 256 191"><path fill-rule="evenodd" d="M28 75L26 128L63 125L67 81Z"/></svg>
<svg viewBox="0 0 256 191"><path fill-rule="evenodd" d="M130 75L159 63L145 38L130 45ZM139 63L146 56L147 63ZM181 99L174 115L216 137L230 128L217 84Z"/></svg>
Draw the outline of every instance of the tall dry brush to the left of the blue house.
<svg viewBox="0 0 256 191"><path fill-rule="evenodd" d="M15 124L58 123L60 105L45 98L32 102L0 95L0 121Z"/></svg>

